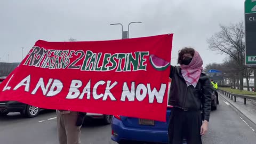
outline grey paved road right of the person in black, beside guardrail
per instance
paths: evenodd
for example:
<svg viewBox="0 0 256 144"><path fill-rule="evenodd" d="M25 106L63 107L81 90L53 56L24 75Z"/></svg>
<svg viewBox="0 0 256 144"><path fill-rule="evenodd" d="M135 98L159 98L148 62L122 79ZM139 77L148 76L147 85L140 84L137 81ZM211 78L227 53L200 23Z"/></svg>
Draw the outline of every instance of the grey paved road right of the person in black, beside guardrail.
<svg viewBox="0 0 256 144"><path fill-rule="evenodd" d="M256 125L219 97L217 111L212 111L209 132L203 141L207 144L254 144Z"/></svg>

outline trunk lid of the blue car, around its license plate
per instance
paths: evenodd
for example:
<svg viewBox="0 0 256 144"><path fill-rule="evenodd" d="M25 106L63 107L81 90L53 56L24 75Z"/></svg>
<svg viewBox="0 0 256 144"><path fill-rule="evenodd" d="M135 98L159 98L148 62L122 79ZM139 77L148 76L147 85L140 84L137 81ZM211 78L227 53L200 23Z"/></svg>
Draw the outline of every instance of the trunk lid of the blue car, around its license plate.
<svg viewBox="0 0 256 144"><path fill-rule="evenodd" d="M126 127L136 127L136 128L141 128L141 129L154 129L154 127L158 130L167 130L168 128L168 123L169 123L169 117L171 113L171 107L167 108L166 111L166 122L160 122L160 121L152 121L150 120L140 120L139 118L133 118L133 117L124 117L120 116L123 124Z"/></svg>

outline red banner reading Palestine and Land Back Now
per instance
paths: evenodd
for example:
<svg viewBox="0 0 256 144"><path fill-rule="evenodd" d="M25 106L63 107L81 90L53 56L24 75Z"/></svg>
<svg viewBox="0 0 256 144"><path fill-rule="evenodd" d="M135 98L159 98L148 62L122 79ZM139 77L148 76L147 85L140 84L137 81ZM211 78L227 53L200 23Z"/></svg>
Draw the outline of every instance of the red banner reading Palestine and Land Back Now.
<svg viewBox="0 0 256 144"><path fill-rule="evenodd" d="M166 121L172 37L39 40L0 84L0 101Z"/></svg>

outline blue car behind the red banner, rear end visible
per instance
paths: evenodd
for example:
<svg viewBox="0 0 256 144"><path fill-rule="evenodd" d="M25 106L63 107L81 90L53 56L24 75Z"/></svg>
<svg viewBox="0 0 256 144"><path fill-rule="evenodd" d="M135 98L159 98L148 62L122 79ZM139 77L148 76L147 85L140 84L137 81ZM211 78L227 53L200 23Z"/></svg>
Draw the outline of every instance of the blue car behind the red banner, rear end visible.
<svg viewBox="0 0 256 144"><path fill-rule="evenodd" d="M168 123L171 106L167 107L166 122L114 115L111 139L119 144L134 142L168 143Z"/></svg>

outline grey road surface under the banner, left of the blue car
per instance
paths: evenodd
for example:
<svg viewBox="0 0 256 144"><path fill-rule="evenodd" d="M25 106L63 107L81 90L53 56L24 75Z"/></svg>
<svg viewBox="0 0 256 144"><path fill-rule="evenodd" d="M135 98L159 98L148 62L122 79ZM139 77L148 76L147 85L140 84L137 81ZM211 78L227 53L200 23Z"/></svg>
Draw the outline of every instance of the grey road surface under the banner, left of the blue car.
<svg viewBox="0 0 256 144"><path fill-rule="evenodd" d="M23 118L19 113L0 117L0 143L2 144L57 144L55 112L45 111L35 118ZM82 127L83 143L112 144L110 125L99 121L87 122Z"/></svg>

